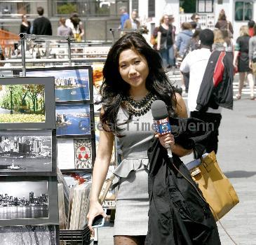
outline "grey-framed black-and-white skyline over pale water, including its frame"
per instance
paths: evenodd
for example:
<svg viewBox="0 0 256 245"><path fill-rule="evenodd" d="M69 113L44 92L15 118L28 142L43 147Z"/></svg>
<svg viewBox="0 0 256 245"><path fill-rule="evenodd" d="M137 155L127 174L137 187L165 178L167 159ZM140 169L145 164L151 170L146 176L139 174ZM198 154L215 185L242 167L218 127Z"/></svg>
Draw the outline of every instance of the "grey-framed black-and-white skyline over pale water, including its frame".
<svg viewBox="0 0 256 245"><path fill-rule="evenodd" d="M0 226L58 225L55 177L0 177Z"/></svg>

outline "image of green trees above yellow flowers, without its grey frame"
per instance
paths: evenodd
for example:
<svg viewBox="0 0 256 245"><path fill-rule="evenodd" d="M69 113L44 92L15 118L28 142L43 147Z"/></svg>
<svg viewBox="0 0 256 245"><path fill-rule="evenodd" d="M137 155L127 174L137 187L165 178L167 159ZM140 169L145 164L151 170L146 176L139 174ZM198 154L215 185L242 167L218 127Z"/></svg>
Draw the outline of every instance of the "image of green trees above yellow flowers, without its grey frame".
<svg viewBox="0 0 256 245"><path fill-rule="evenodd" d="M44 95L41 84L0 85L0 123L44 123Z"/></svg>

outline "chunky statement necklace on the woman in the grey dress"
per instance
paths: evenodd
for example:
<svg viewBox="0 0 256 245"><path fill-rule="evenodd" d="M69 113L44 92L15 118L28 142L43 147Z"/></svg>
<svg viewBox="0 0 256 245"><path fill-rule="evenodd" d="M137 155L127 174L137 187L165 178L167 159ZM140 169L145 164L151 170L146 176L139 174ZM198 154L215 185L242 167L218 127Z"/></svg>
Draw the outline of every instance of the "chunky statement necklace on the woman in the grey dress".
<svg viewBox="0 0 256 245"><path fill-rule="evenodd" d="M151 104L156 100L156 95L149 92L142 100L135 101L132 97L126 96L123 99L123 103L126 104L128 111L133 116L142 116L146 114Z"/></svg>

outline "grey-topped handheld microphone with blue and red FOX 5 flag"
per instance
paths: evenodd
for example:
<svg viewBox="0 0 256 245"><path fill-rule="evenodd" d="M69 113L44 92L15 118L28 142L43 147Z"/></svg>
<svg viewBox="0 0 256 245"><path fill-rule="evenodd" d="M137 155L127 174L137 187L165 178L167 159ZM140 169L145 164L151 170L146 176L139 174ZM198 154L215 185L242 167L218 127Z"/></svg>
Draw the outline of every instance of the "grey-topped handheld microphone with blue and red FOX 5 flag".
<svg viewBox="0 0 256 245"><path fill-rule="evenodd" d="M154 127L157 133L164 135L171 133L166 103L162 100L155 100L151 104L151 113L154 118ZM166 146L168 157L173 160L173 153L170 146Z"/></svg>

